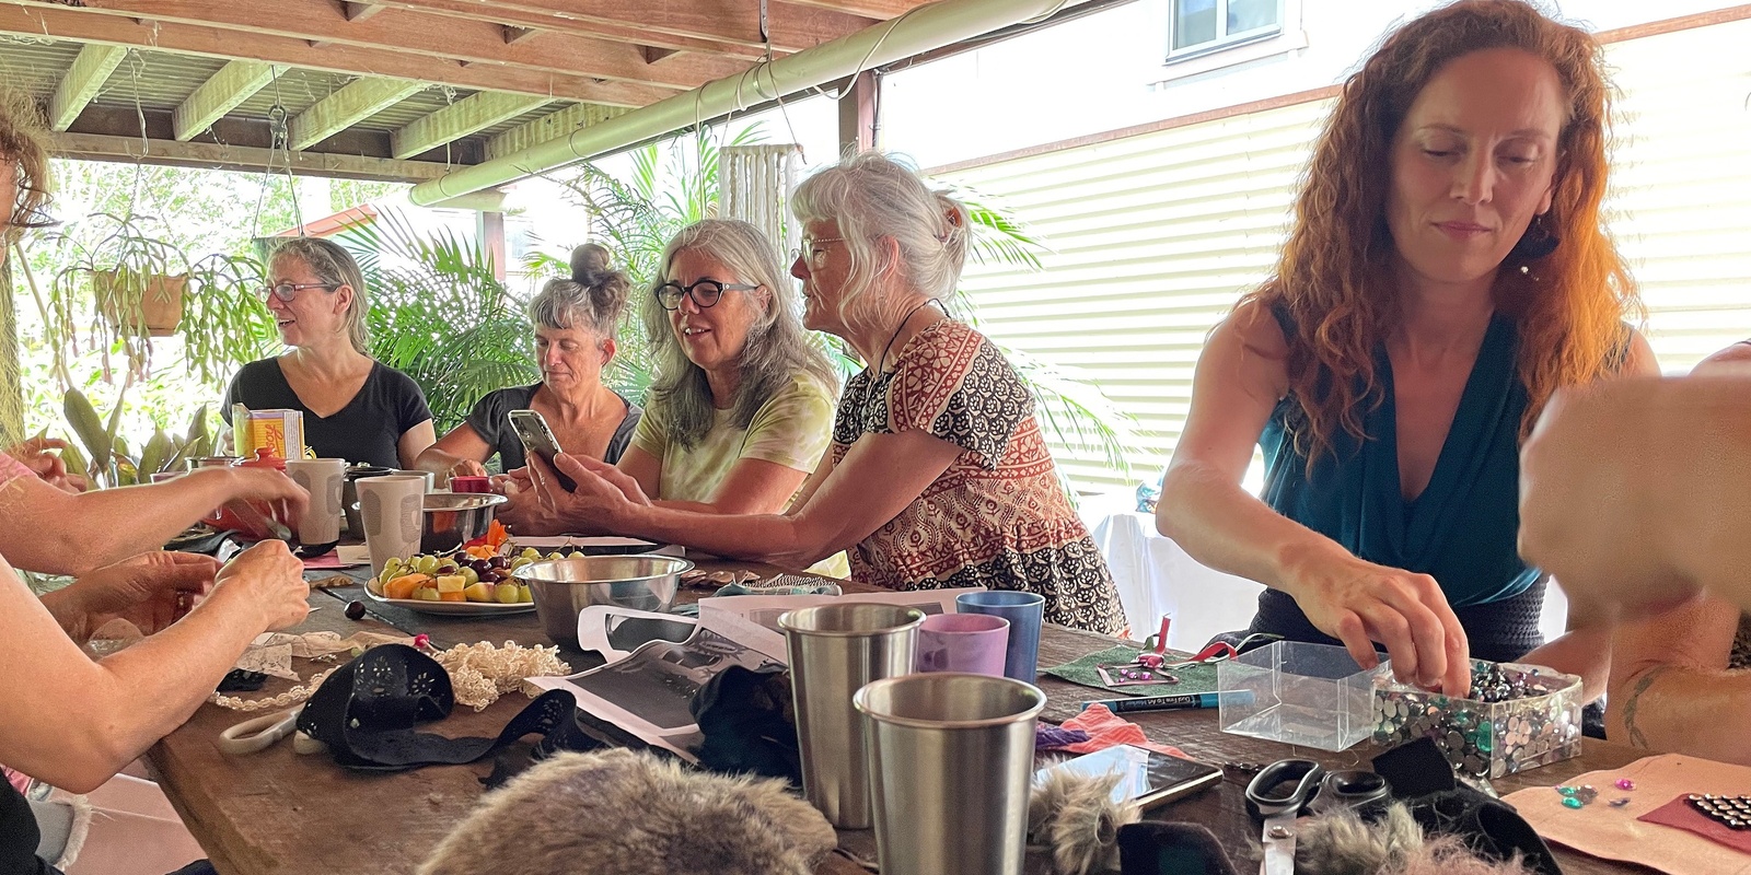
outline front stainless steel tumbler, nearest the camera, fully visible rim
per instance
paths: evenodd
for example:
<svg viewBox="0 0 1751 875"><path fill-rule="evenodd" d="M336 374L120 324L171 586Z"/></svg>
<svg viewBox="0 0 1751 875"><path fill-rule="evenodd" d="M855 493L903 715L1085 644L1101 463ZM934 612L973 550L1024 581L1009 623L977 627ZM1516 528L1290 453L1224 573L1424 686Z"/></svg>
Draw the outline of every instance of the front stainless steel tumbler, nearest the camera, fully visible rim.
<svg viewBox="0 0 1751 875"><path fill-rule="evenodd" d="M883 875L1023 870L1040 688L914 674L876 681L853 704L868 744Z"/></svg>

